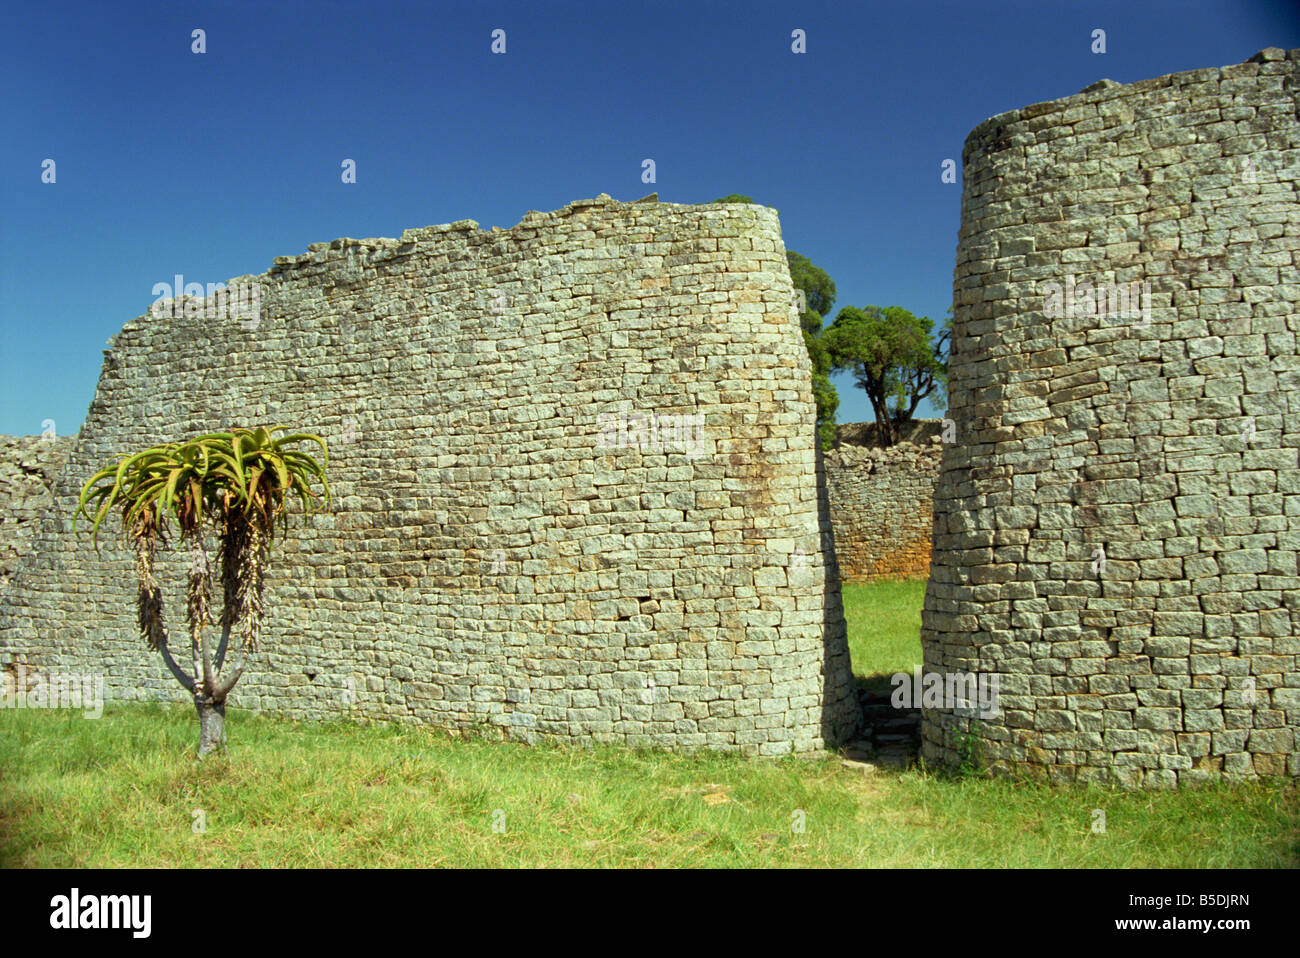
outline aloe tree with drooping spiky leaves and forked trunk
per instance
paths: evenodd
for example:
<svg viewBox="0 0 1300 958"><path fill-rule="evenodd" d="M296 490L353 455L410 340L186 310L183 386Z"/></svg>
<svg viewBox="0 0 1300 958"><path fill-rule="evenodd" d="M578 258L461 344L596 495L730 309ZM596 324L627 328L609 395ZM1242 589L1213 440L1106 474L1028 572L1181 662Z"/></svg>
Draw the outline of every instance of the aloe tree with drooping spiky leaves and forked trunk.
<svg viewBox="0 0 1300 958"><path fill-rule="evenodd" d="M330 504L325 441L308 433L277 435L286 430L233 429L122 455L86 482L73 516L74 523L82 515L94 519L91 538L98 549L100 523L114 506L121 508L122 534L135 551L140 637L194 695L199 758L225 746L226 698L257 650L276 520L287 532L287 503L294 494L304 515ZM302 448L286 448L298 442L317 443L320 461ZM321 495L313 491L313 481L320 481ZM190 546L188 672L172 655L162 624L162 593L153 577L155 552L166 542L173 520L181 542ZM212 564L204 546L208 530L216 533L218 543L220 620L212 615ZM221 637L213 646L208 627L218 623ZM228 658L231 640L237 654Z"/></svg>

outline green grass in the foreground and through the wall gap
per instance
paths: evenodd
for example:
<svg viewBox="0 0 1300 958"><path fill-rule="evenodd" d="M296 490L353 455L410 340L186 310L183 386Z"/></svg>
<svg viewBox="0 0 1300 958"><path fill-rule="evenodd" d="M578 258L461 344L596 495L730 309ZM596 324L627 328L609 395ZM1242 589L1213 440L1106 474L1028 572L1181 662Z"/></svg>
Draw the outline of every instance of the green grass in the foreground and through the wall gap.
<svg viewBox="0 0 1300 958"><path fill-rule="evenodd" d="M846 589L859 675L919 662L919 595ZM1300 864L1288 784L1126 793L868 777L836 757L529 747L237 710L228 733L230 754L199 764L190 708L0 711L0 864Z"/></svg>

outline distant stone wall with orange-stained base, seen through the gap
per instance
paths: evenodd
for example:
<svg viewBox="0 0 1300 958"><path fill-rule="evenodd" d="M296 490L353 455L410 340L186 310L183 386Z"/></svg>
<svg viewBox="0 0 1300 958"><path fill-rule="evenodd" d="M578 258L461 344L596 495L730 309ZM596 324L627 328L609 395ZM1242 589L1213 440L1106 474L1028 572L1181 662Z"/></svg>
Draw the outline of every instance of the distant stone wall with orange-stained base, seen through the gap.
<svg viewBox="0 0 1300 958"><path fill-rule="evenodd" d="M942 452L937 429L880 448L850 442L862 425L841 425L840 442L826 456L840 575L846 581L927 576Z"/></svg>

